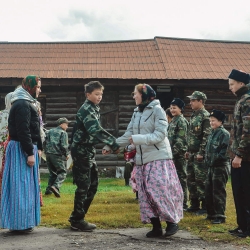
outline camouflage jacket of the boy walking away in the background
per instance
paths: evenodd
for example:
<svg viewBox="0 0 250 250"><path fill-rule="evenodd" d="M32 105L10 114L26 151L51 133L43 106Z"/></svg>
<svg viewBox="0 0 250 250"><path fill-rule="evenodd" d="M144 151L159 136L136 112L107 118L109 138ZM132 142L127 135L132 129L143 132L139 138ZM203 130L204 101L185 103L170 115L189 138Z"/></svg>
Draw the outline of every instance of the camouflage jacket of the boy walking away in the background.
<svg viewBox="0 0 250 250"><path fill-rule="evenodd" d="M69 155L68 134L60 126L45 132L45 154Z"/></svg>

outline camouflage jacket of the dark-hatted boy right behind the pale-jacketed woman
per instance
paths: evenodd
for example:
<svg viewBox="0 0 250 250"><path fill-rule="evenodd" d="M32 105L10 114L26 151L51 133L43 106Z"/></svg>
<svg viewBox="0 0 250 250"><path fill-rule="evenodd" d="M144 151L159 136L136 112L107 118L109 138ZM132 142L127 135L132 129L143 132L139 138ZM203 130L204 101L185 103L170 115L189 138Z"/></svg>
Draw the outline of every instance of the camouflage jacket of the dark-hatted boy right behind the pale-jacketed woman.
<svg viewBox="0 0 250 250"><path fill-rule="evenodd" d="M183 116L173 117L168 126L168 139L172 148L173 156L183 156L187 151L188 121Z"/></svg>

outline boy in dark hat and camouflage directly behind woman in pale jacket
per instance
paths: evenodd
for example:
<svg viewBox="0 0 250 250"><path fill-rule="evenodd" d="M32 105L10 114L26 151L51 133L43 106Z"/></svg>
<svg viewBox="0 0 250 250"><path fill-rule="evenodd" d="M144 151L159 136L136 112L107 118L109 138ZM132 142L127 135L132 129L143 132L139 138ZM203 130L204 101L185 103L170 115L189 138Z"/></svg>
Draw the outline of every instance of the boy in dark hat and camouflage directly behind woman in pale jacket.
<svg viewBox="0 0 250 250"><path fill-rule="evenodd" d="M183 209L187 209L187 160L184 155L187 151L188 121L183 116L185 103L174 98L170 103L170 112L173 116L168 126L168 139L172 148L175 168L183 190Z"/></svg>

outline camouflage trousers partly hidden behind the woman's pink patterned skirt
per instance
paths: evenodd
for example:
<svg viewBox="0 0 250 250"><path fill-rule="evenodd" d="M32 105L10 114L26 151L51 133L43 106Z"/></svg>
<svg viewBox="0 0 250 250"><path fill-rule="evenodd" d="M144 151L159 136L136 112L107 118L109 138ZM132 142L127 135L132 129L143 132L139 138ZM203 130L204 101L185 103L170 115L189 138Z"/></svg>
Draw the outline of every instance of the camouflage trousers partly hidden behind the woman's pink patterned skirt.
<svg viewBox="0 0 250 250"><path fill-rule="evenodd" d="M174 165L183 190L183 207L187 206L187 160L182 156L174 156Z"/></svg>

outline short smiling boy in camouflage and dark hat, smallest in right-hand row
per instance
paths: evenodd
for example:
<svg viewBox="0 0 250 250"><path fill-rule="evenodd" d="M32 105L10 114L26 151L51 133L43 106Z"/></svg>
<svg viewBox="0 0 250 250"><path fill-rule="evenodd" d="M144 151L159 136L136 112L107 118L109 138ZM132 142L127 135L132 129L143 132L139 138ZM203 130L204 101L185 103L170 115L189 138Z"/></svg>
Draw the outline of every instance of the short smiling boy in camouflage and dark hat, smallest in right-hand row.
<svg viewBox="0 0 250 250"><path fill-rule="evenodd" d="M208 136L205 164L208 167L208 175L205 185L207 220L212 224L225 222L226 210L226 184L229 176L229 158L227 147L229 144L229 132L223 127L225 114L213 109L210 114L211 134Z"/></svg>

